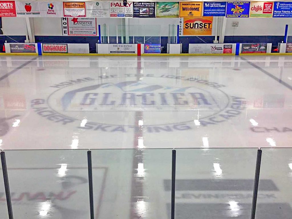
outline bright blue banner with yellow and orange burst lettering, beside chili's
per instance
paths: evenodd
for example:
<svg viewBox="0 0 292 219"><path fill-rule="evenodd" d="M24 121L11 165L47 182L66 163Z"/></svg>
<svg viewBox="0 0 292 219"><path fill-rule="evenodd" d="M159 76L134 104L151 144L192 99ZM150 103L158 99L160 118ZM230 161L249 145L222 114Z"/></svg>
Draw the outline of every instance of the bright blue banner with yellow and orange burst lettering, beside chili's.
<svg viewBox="0 0 292 219"><path fill-rule="evenodd" d="M248 18L249 6L249 1L228 1L226 18Z"/></svg>

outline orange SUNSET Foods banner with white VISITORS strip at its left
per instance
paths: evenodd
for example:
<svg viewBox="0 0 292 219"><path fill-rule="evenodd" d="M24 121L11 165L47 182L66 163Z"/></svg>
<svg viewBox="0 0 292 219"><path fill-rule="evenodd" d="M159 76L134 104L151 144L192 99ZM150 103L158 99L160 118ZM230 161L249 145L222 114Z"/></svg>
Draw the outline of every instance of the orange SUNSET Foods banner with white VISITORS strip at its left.
<svg viewBox="0 0 292 219"><path fill-rule="evenodd" d="M180 36L211 36L213 17L180 18Z"/></svg>

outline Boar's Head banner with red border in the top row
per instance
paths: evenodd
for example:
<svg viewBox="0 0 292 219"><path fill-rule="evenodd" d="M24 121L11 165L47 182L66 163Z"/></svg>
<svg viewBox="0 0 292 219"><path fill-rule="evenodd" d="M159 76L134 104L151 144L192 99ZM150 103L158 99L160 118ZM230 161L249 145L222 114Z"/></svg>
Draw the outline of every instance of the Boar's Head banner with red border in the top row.
<svg viewBox="0 0 292 219"><path fill-rule="evenodd" d="M64 1L63 17L86 17L85 2Z"/></svg>

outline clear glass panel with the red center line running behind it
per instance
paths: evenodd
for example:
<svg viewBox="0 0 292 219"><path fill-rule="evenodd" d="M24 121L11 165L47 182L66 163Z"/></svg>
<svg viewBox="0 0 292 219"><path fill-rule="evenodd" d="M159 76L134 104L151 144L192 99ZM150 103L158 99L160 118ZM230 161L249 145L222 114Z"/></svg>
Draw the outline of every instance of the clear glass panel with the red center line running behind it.
<svg viewBox="0 0 292 219"><path fill-rule="evenodd" d="M170 149L92 150L95 218L169 218Z"/></svg>

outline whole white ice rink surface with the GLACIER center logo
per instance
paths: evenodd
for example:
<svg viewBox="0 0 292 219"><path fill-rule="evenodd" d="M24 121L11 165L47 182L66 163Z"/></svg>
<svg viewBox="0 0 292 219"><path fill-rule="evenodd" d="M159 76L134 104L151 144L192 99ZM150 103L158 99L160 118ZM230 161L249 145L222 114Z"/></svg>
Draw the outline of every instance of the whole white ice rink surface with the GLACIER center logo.
<svg viewBox="0 0 292 219"><path fill-rule="evenodd" d="M14 218L90 218L88 149L95 218L170 218L172 148L175 219L250 218L261 147L256 218L291 219L292 56L10 56L0 69Z"/></svg>

